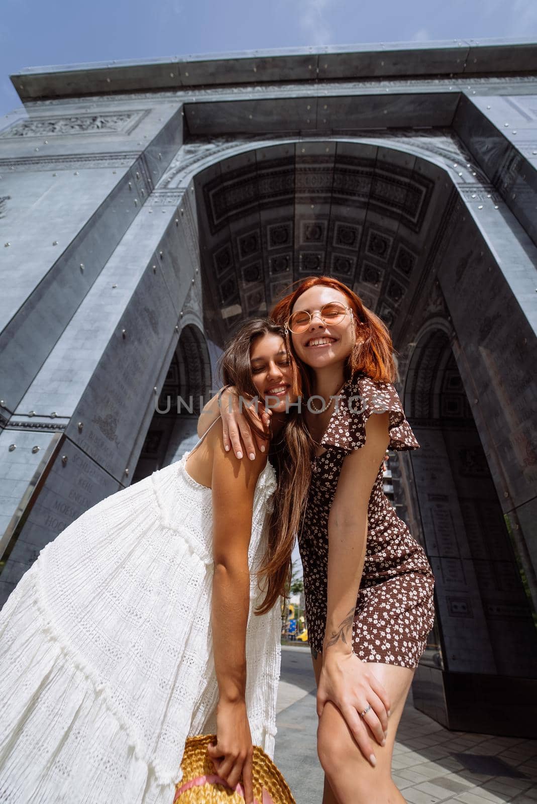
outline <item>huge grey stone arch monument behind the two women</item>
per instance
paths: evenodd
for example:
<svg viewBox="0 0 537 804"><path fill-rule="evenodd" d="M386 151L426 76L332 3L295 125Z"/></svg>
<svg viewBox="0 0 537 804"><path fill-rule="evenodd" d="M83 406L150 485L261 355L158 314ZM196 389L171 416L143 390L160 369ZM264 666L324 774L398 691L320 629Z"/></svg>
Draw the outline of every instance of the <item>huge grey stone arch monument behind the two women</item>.
<svg viewBox="0 0 537 804"><path fill-rule="evenodd" d="M239 322L330 273L390 328L421 445L390 461L437 579L416 706L532 733L536 57L457 40L11 76L0 602L82 511L191 445L195 410L158 409L217 384Z"/></svg>

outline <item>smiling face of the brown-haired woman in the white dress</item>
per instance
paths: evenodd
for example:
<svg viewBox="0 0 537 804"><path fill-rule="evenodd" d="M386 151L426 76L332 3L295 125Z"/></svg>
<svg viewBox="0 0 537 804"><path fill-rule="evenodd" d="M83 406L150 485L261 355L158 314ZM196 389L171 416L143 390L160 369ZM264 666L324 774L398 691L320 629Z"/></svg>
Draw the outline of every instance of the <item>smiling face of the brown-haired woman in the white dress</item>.
<svg viewBox="0 0 537 804"><path fill-rule="evenodd" d="M268 406L286 412L286 404L296 402L291 392L291 366L285 341L277 334L260 335L250 348L253 384L261 399L269 396Z"/></svg>

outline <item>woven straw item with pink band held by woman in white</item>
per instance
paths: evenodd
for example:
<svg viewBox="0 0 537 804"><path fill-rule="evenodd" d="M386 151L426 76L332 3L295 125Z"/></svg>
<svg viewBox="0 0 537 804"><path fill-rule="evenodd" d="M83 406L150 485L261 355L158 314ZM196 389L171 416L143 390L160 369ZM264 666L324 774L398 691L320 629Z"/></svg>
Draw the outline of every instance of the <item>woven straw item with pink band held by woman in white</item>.
<svg viewBox="0 0 537 804"><path fill-rule="evenodd" d="M207 753L214 734L189 737L182 757L182 780L175 788L174 804L244 804L244 790L238 784L232 792L215 773ZM259 746L253 747L253 795L256 804L296 804L284 777Z"/></svg>

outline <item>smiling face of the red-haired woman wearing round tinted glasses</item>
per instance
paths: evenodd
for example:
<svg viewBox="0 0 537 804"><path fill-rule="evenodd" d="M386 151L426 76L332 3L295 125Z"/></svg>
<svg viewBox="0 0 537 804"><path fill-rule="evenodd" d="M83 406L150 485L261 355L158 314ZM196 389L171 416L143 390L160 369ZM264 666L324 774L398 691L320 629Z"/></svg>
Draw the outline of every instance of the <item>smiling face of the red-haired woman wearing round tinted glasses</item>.
<svg viewBox="0 0 537 804"><path fill-rule="evenodd" d="M297 358L313 369L345 363L352 349L355 319L350 311L347 310L345 318L337 324L322 322L320 310L332 301L338 301L345 307L350 306L349 299L339 290L326 285L314 285L297 298L291 310L291 313L307 310L312 315L304 332L290 333L290 336L293 338Z"/></svg>

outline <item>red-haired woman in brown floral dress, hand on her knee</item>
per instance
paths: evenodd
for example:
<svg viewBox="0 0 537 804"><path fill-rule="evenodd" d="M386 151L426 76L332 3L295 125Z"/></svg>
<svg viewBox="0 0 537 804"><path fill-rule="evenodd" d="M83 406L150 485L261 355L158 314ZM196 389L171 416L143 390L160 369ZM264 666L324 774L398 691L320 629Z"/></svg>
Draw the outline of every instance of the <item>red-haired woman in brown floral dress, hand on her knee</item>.
<svg viewBox="0 0 537 804"><path fill-rule="evenodd" d="M323 804L404 802L391 756L434 621L434 577L383 493L386 450L420 446L392 384L391 336L331 277L302 281L272 317L285 326L301 398L303 465L295 469L301 485L305 473L308 483L298 543L318 684ZM225 448L240 457L242 436L255 457L240 412L222 407Z"/></svg>

